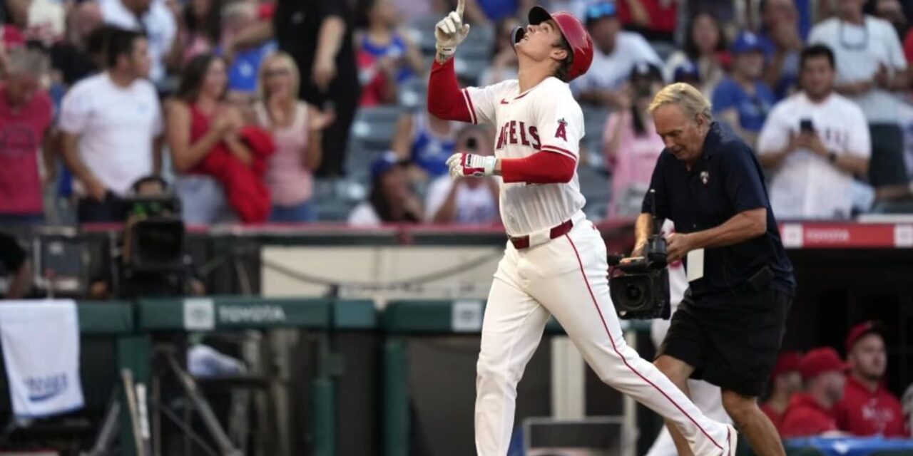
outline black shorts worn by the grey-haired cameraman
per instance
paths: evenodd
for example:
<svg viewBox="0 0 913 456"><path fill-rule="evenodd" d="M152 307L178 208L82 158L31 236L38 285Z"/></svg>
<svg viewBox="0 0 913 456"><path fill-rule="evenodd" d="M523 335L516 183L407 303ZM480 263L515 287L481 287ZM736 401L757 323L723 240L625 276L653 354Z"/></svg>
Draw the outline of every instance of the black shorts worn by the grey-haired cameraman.
<svg viewBox="0 0 913 456"><path fill-rule="evenodd" d="M672 316L656 357L668 355L695 368L691 378L745 396L761 397L780 353L792 295L746 292L720 306L685 298Z"/></svg>

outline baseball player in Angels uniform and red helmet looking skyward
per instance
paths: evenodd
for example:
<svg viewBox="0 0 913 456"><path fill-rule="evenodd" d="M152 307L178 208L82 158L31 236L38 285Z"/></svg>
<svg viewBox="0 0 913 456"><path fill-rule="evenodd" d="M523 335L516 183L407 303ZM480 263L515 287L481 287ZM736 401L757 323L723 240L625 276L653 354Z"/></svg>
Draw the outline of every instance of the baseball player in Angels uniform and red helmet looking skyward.
<svg viewBox="0 0 913 456"><path fill-rule="evenodd" d="M437 23L428 111L488 123L495 156L456 153L455 178L502 177L501 219L509 242L498 264L482 324L476 380L476 449L503 456L513 430L517 382L550 315L602 380L674 423L699 456L735 454L737 435L710 420L652 364L624 344L609 298L605 244L581 211L577 181L583 115L568 82L586 72L593 42L569 13L530 9L530 26L512 44L517 79L460 89L456 47L466 38L463 1Z"/></svg>

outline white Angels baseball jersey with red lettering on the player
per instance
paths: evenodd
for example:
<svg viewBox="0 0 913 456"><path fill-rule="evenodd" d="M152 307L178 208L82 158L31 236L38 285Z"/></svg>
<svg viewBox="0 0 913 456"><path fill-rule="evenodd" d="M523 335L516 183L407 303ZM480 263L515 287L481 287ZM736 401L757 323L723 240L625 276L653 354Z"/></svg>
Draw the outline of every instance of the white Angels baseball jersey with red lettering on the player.
<svg viewBox="0 0 913 456"><path fill-rule="evenodd" d="M484 88L464 88L472 122L497 131L495 156L520 159L540 150L577 161L583 138L583 113L568 85L546 78L520 93L517 79ZM501 220L510 236L522 236L567 222L586 200L577 173L568 183L501 185Z"/></svg>

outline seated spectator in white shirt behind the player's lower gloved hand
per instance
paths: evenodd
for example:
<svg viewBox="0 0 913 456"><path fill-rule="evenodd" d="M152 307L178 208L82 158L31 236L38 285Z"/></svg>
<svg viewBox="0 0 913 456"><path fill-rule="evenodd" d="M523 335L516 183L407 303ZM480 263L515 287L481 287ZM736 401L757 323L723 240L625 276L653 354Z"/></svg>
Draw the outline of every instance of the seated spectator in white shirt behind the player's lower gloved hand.
<svg viewBox="0 0 913 456"><path fill-rule="evenodd" d="M470 125L456 134L455 150L494 155L488 130ZM498 223L498 178L462 179L449 175L431 182L425 196L425 221L432 223Z"/></svg>

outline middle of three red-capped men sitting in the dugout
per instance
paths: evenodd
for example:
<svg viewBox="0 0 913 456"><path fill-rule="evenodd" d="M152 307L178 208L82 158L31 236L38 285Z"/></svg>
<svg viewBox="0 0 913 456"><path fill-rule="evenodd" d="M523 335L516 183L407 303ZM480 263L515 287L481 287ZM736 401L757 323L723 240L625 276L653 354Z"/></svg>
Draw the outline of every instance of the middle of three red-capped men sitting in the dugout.
<svg viewBox="0 0 913 456"><path fill-rule="evenodd" d="M783 438L811 437L837 432L834 404L844 394L846 365L834 348L814 348L799 366L805 392L796 393L783 414Z"/></svg>

